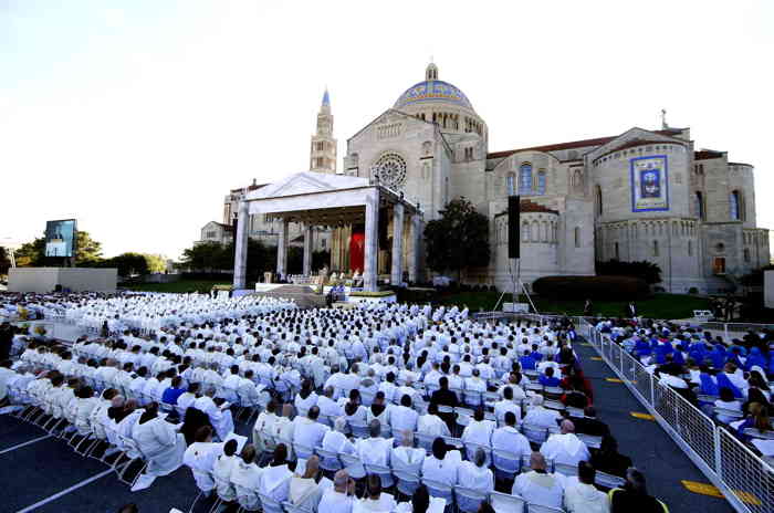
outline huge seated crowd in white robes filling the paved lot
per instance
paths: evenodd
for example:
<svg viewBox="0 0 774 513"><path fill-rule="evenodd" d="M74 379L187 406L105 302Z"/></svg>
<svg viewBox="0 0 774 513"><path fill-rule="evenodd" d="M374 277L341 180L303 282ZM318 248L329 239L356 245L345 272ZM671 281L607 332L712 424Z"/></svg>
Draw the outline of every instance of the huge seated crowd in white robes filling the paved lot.
<svg viewBox="0 0 774 513"><path fill-rule="evenodd" d="M0 380L21 417L79 448L137 451L154 477L187 464L203 494L248 509L423 512L435 498L489 511L504 493L568 512L666 511L596 418L566 318L217 301L84 300L82 317L117 322L111 336L32 342ZM161 321L124 318L138 312ZM258 413L251 441L233 433L245 413Z"/></svg>

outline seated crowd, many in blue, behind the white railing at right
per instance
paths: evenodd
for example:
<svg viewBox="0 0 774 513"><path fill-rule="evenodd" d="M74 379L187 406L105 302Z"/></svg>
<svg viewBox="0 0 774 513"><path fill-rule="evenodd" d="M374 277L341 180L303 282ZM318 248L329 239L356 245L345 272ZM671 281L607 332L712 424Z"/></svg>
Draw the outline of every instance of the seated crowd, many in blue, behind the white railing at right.
<svg viewBox="0 0 774 513"><path fill-rule="evenodd" d="M701 327L600 320L596 329L636 357L659 384L699 407L763 456L774 456L774 334L724 341Z"/></svg>

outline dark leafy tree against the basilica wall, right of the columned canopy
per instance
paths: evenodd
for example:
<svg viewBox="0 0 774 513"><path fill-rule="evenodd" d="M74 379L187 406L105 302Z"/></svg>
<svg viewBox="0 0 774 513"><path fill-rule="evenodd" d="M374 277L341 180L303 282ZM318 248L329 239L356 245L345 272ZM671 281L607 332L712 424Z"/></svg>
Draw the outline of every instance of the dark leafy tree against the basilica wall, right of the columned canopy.
<svg viewBox="0 0 774 513"><path fill-rule="evenodd" d="M439 213L425 227L427 264L437 272L456 271L459 282L463 270L489 264L489 220L462 197Z"/></svg>

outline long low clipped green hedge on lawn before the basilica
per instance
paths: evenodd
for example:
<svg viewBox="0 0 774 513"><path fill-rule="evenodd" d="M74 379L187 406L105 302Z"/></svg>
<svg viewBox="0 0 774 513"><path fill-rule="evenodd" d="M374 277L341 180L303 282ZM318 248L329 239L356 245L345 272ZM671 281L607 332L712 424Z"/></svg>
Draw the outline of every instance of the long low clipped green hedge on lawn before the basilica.
<svg viewBox="0 0 774 513"><path fill-rule="evenodd" d="M629 301L650 295L645 280L631 276L544 276L532 289L552 300Z"/></svg>

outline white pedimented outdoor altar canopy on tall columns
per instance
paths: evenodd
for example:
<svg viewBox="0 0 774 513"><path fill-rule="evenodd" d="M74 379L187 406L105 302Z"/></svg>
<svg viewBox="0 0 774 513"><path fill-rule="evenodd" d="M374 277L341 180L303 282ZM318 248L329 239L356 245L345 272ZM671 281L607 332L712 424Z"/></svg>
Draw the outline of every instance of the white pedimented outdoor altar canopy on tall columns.
<svg viewBox="0 0 774 513"><path fill-rule="evenodd" d="M422 211L396 191L362 177L303 171L275 184L251 191L239 206L237 248L234 251L234 287L244 289L247 279L247 245L249 216L265 216L280 221L276 252L276 275L287 281L287 226L303 226L303 272L292 276L292 283L313 281L312 228L335 229L332 263L339 272L360 274L363 291L378 291L379 228L385 221L391 227L390 283L416 281L421 264ZM381 220L381 222L380 222ZM341 250L346 248L347 261ZM360 256L362 251L362 256ZM384 252L383 252L384 253ZM362 266L360 264L362 260ZM345 265L347 263L348 265ZM314 283L304 283L314 285ZM324 285L324 284L323 284Z"/></svg>

